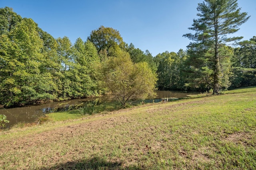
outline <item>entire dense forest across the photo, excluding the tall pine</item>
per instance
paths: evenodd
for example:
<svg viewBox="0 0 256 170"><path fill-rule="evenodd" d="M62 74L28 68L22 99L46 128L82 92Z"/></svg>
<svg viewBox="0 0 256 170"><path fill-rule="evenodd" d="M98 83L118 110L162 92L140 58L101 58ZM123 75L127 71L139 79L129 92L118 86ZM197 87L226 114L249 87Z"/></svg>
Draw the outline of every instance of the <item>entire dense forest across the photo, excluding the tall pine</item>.
<svg viewBox="0 0 256 170"><path fill-rule="evenodd" d="M200 30L198 25L194 23L192 29ZM205 39L198 43L202 39L197 35L184 35L194 41L197 37L197 43L190 43L186 50L152 56L148 50L125 43L119 31L110 27L100 26L86 41L78 38L72 44L68 37L55 39L12 8L0 8L0 105L13 107L98 96L111 88L116 92L115 87L122 83L129 85L128 94L119 101L138 97L138 91L146 87L150 89L144 94L152 89L212 91L216 63L211 56L216 51L206 45ZM256 37L237 44L218 45L218 92L256 85ZM125 67L118 70L119 65ZM128 81L113 84L124 76ZM127 95L130 97L125 98Z"/></svg>

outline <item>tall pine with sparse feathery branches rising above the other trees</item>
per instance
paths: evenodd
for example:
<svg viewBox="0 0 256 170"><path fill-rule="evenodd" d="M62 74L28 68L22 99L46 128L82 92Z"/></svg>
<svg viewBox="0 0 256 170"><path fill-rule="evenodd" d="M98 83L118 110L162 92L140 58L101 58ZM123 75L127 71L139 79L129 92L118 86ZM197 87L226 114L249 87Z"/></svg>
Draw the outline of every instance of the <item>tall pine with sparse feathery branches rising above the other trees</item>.
<svg viewBox="0 0 256 170"><path fill-rule="evenodd" d="M238 27L245 23L249 17L247 13L240 12L237 0L204 0L199 3L198 19L194 19L192 27L196 33L188 33L183 36L195 41L188 46L193 51L200 51L202 60L206 55L206 60L212 61L211 67L204 66L205 72L211 75L213 93L218 94L222 88L222 64L221 60L225 56L221 56L219 49L226 43L232 43L242 39L242 37L227 37L229 34L238 31ZM206 54L207 53L207 54ZM206 77L206 76L204 76ZM208 82L207 82L208 81ZM206 83L209 84L209 80Z"/></svg>

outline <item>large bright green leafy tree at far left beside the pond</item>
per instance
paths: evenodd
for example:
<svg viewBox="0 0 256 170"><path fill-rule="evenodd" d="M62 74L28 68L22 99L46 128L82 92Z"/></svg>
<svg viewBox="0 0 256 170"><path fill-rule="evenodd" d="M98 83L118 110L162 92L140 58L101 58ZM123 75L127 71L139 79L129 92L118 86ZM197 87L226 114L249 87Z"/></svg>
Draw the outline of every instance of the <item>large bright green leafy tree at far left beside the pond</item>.
<svg viewBox="0 0 256 170"><path fill-rule="evenodd" d="M26 104L38 94L43 42L32 19L22 19L7 35L1 35L1 99L6 106Z"/></svg>

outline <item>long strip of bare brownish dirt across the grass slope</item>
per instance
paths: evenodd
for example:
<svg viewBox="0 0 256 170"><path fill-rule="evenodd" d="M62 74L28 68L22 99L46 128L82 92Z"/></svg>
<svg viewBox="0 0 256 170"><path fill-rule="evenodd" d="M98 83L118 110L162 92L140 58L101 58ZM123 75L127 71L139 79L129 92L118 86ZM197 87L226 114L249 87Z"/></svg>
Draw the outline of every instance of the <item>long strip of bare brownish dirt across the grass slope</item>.
<svg viewBox="0 0 256 170"><path fill-rule="evenodd" d="M103 115L102 115L103 116ZM91 121L86 123L79 123L76 125L67 125L64 127L56 128L53 131L46 131L35 135L28 135L24 138L19 138L15 141L15 145L12 145L13 142L8 140L0 143L0 152L12 149L24 149L37 145L45 145L52 142L61 141L63 139L75 137L78 135L83 135L88 132L96 132L100 129L107 129L114 127L118 124L126 123L128 120L124 116L120 117L111 117L107 119L101 119L97 121Z"/></svg>

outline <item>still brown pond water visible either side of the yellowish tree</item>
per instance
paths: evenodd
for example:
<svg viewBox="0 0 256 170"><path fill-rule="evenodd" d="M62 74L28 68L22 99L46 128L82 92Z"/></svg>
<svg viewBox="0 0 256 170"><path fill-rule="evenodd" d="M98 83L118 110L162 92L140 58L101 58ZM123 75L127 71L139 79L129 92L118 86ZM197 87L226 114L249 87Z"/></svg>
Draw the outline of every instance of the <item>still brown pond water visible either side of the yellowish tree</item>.
<svg viewBox="0 0 256 170"><path fill-rule="evenodd" d="M185 98L190 94L194 93L184 93L184 92L170 92L170 91L157 91L157 97L154 102L160 102L162 98ZM74 99L66 100L62 102L51 102L48 104L42 104L38 106L26 106L26 107L15 107L10 109L0 109L0 115L6 115L7 120L10 123L6 123L6 127L10 127L18 122L34 122L38 117L54 112L65 110L70 106L76 106L84 104L88 101L96 100L96 98L86 98L86 99ZM151 100L152 101L152 100Z"/></svg>

